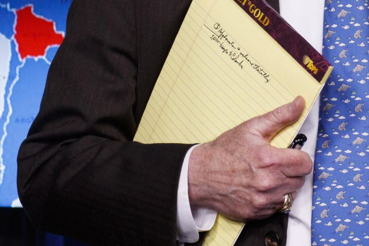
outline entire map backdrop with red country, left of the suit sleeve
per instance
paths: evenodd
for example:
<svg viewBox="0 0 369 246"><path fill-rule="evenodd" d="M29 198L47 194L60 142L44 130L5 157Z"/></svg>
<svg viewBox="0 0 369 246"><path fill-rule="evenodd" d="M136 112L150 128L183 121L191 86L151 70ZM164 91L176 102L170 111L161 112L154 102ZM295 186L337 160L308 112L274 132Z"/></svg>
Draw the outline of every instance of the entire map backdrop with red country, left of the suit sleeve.
<svg viewBox="0 0 369 246"><path fill-rule="evenodd" d="M35 119L72 0L0 0L0 207L20 207L17 153Z"/></svg>

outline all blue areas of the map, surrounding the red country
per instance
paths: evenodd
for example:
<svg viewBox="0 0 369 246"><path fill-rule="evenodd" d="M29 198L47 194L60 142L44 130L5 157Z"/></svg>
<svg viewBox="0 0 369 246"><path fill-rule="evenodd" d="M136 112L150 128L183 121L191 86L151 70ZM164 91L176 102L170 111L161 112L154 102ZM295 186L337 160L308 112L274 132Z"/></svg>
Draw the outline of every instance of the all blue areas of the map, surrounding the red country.
<svg viewBox="0 0 369 246"><path fill-rule="evenodd" d="M0 33L8 39L14 35L15 14L7 9L8 3L9 8L15 10L32 4L34 6L33 13L37 17L54 21L56 31L65 33L66 17L71 2L72 0L0 0L2 5L0 7ZM6 83L3 84L5 86L4 111L0 117L0 137L4 138L6 136L1 156L5 170L2 183L0 182L0 207L8 207L12 204L19 206L16 202L18 198L16 184L18 149L37 116L49 70L48 62L54 59L57 50L58 47L49 47L45 54L46 60L43 58L36 60L30 57L20 61L15 41L11 41L10 71ZM0 49L0 54L1 52ZM4 57L0 55L0 59L4 59ZM18 80L16 80L17 68ZM11 91L12 83L13 90ZM12 94L9 98L10 93ZM10 107L7 99L10 99ZM6 129L6 135L4 135L4 128Z"/></svg>

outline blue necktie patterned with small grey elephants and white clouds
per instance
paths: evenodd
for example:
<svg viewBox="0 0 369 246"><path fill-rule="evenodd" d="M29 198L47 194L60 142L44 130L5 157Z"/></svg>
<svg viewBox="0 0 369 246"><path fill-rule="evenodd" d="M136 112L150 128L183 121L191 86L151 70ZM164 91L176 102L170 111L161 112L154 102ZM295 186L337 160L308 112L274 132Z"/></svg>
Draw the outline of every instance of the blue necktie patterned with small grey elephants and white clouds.
<svg viewBox="0 0 369 246"><path fill-rule="evenodd" d="M369 245L369 8L326 0L311 245Z"/></svg>

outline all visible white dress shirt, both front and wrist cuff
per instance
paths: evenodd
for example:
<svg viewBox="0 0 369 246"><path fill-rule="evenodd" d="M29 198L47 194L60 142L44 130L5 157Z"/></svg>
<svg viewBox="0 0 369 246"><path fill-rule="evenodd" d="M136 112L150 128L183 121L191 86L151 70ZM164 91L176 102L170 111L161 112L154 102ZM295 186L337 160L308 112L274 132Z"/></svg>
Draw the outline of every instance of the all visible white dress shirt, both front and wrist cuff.
<svg viewBox="0 0 369 246"><path fill-rule="evenodd" d="M324 0L280 0L281 16L302 35L317 51L322 51ZM308 141L303 147L314 162L318 131L319 99L315 102L306 121L300 129ZM196 146L194 146L196 147ZM188 198L187 172L189 156L187 152L180 174L177 198L177 240L196 242L201 231L210 230L217 212L206 208L191 208ZM303 187L297 191L289 213L286 246L311 245L311 204L313 200L313 172L306 176Z"/></svg>

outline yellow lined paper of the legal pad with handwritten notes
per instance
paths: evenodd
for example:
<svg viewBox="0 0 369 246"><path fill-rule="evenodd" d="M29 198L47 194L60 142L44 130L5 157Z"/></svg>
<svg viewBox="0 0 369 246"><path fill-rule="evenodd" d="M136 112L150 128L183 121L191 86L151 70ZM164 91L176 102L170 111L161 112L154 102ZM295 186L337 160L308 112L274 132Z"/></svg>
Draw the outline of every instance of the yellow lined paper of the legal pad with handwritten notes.
<svg viewBox="0 0 369 246"><path fill-rule="evenodd" d="M286 148L292 142L332 68L319 83L263 30L261 14L252 18L245 12L250 10L247 4L242 8L233 0L193 0L135 141L208 142L301 95L306 100L303 115L281 130L271 144ZM301 63L314 71L309 62L307 54ZM218 215L204 245L233 245L243 225Z"/></svg>

